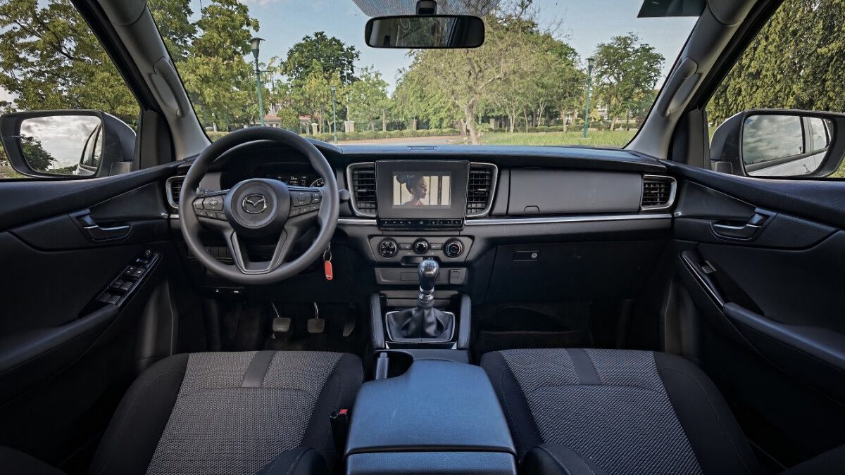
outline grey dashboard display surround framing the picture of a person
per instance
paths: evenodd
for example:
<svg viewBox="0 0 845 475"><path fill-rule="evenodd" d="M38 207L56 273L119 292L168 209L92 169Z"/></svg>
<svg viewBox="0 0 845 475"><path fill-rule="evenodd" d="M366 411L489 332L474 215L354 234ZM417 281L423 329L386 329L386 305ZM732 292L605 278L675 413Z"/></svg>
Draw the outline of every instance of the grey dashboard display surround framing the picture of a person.
<svg viewBox="0 0 845 475"><path fill-rule="evenodd" d="M466 181L469 161L390 160L375 162L376 197L381 218L463 218L466 216ZM394 207L393 180L396 172L451 175L449 208Z"/></svg>

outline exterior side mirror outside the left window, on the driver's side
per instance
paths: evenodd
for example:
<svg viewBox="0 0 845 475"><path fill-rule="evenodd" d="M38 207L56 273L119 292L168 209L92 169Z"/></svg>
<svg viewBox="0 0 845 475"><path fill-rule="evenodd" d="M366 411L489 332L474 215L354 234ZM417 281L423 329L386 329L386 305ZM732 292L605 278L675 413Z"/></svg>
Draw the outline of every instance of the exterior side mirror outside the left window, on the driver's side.
<svg viewBox="0 0 845 475"><path fill-rule="evenodd" d="M106 177L132 170L135 132L88 110L12 112L0 117L10 165L30 177Z"/></svg>

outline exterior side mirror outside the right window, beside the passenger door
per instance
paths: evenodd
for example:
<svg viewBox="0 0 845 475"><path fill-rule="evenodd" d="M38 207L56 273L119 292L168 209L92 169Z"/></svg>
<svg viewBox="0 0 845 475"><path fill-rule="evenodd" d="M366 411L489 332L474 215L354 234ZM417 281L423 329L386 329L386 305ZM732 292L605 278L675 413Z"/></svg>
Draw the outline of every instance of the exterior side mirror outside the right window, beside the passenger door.
<svg viewBox="0 0 845 475"><path fill-rule="evenodd" d="M713 134L714 170L748 177L826 177L845 153L845 114L755 109Z"/></svg>

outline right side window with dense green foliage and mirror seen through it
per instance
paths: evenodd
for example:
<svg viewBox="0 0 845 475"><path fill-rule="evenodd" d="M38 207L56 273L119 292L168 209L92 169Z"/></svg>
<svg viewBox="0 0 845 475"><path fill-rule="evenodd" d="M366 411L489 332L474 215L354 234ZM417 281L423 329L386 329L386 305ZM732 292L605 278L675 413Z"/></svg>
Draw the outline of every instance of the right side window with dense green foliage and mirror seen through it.
<svg viewBox="0 0 845 475"><path fill-rule="evenodd" d="M837 0L785 0L771 16L707 103L714 170L845 178L842 14Z"/></svg>

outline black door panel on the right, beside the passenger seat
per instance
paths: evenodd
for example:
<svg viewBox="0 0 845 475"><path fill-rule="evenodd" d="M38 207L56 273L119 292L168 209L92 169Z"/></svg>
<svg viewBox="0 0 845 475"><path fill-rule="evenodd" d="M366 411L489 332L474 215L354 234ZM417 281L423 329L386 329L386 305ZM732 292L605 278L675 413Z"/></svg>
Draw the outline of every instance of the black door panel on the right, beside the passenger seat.
<svg viewBox="0 0 845 475"><path fill-rule="evenodd" d="M680 344L783 465L845 443L845 183L731 177L680 165L673 317ZM837 199L831 201L833 190ZM813 205L806 205L813 203ZM668 334L668 338L673 338ZM676 338L678 339L678 338ZM673 347L678 347L675 342Z"/></svg>

